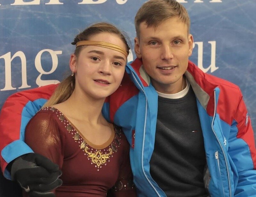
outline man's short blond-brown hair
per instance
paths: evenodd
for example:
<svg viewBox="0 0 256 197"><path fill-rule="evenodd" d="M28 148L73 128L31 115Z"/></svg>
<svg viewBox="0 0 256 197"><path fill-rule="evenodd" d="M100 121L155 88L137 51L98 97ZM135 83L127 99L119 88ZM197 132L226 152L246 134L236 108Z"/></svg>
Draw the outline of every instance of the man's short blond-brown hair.
<svg viewBox="0 0 256 197"><path fill-rule="evenodd" d="M140 24L145 22L147 27L155 26L172 17L178 17L190 28L190 19L186 8L175 0L149 0L144 3L135 16L136 35L140 37Z"/></svg>

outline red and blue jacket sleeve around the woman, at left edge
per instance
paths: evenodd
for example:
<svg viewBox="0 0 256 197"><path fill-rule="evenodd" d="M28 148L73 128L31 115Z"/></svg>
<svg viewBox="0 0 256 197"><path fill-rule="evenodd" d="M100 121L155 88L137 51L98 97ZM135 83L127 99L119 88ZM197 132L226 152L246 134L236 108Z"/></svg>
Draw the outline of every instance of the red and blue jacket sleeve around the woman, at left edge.
<svg viewBox="0 0 256 197"><path fill-rule="evenodd" d="M26 125L56 87L54 84L17 92L5 101L0 114L0 164L6 178L11 179L10 173L5 169L9 162L20 155L33 152L24 142Z"/></svg>

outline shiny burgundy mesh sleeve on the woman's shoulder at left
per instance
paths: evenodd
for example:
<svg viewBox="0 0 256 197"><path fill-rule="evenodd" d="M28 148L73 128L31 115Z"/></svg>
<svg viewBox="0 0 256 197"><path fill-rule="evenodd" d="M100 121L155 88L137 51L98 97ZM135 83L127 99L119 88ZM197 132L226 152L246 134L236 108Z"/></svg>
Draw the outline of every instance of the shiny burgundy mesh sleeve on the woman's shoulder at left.
<svg viewBox="0 0 256 197"><path fill-rule="evenodd" d="M51 113L39 111L28 123L25 142L38 154L44 155L52 162L63 165L62 139L57 121ZM52 191L55 192L55 191Z"/></svg>

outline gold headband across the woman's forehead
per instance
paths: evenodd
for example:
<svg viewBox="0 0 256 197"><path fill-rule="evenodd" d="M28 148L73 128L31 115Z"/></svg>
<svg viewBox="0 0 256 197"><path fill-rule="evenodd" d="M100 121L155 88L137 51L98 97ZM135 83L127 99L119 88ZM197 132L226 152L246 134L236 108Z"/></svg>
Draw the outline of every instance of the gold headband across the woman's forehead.
<svg viewBox="0 0 256 197"><path fill-rule="evenodd" d="M91 41L91 40L84 40L84 41L79 41L76 43L76 47L85 46L85 45L101 46L104 48L113 49L115 51L119 51L119 52L123 53L126 58L128 56L128 53L124 49L122 49L120 46L117 46L115 44L105 43L105 42L101 42L101 41Z"/></svg>

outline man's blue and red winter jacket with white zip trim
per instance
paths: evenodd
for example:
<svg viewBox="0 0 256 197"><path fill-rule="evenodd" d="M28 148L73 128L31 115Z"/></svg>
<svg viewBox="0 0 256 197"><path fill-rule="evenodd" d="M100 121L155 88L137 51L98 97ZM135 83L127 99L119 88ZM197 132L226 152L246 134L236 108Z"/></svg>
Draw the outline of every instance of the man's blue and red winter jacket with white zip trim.
<svg viewBox="0 0 256 197"><path fill-rule="evenodd" d="M185 73L196 95L207 161L205 187L211 197L256 197L256 149L246 106L238 86L205 74L192 62ZM25 127L57 85L10 96L0 114L1 168L33 152L24 143ZM149 173L154 150L158 95L140 59L126 66L122 86L109 96L102 112L123 127L131 144L130 160L138 196L166 196ZM36 131L35 131L36 132ZM171 150L170 150L171 151Z"/></svg>

